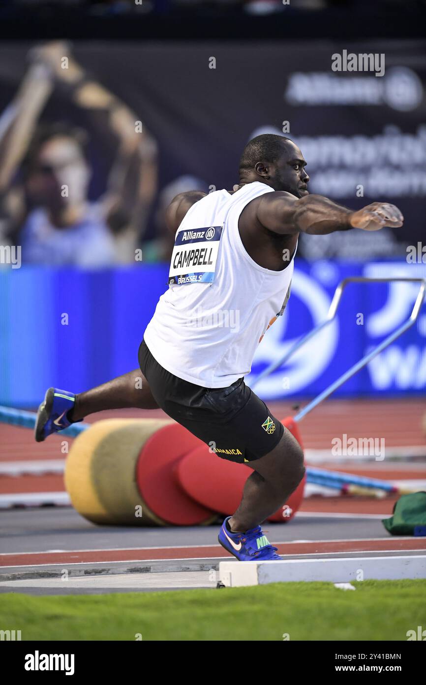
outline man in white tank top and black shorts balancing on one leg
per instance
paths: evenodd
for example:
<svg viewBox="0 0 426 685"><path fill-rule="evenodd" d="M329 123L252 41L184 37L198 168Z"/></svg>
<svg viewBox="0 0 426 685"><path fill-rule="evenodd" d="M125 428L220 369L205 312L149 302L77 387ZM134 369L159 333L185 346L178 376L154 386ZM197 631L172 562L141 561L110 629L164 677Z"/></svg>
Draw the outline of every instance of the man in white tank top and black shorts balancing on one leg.
<svg viewBox="0 0 426 685"><path fill-rule="evenodd" d="M175 234L169 288L139 347L142 390L139 369L79 395L50 388L36 422L40 442L87 414L160 407L214 443L217 456L250 466L239 508L219 532L219 543L240 561L280 559L260 524L305 472L297 440L244 382L259 341L289 298L297 237L403 223L388 203L354 212L309 195L305 166L289 138L256 136L243 151L232 192L177 195L167 212Z"/></svg>

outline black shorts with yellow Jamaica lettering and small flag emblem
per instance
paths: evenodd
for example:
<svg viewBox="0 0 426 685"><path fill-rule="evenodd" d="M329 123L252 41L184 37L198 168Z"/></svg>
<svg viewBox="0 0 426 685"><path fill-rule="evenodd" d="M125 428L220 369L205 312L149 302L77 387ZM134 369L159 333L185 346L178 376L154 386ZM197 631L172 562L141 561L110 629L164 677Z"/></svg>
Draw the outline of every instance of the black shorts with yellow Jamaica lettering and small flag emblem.
<svg viewBox="0 0 426 685"><path fill-rule="evenodd" d="M139 366L161 409L207 443L218 457L252 462L269 453L284 433L265 402L239 378L228 388L202 388L163 369L142 340Z"/></svg>

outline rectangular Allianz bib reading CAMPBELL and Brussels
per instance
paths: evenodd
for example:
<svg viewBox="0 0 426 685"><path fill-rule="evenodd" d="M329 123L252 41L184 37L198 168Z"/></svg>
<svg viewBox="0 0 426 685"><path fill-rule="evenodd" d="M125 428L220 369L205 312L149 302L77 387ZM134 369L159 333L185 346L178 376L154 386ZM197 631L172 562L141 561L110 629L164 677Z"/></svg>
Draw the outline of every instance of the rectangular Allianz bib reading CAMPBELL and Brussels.
<svg viewBox="0 0 426 685"><path fill-rule="evenodd" d="M170 262L168 284L213 283L222 226L179 231Z"/></svg>

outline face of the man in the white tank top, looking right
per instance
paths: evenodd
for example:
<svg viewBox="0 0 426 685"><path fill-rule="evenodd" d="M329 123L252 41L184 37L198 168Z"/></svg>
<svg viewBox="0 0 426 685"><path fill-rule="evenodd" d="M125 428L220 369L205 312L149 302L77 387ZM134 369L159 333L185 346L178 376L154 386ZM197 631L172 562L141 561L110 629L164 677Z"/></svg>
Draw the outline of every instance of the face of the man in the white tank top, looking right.
<svg viewBox="0 0 426 685"><path fill-rule="evenodd" d="M297 145L287 141L282 145L282 156L275 164L268 165L268 185L274 190L286 190L295 197L308 195L309 176L306 162Z"/></svg>

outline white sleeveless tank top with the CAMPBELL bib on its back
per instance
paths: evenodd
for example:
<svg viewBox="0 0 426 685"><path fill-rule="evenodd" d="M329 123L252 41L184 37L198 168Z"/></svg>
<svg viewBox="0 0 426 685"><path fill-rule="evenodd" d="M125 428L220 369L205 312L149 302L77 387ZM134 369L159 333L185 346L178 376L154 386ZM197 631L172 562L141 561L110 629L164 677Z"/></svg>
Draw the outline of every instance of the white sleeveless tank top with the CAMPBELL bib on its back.
<svg viewBox="0 0 426 685"><path fill-rule="evenodd" d="M239 215L265 192L274 190L254 182L189 208L176 232L169 288L144 333L166 371L204 388L226 388L250 373L258 343L289 299L294 254L284 271L264 269L239 235Z"/></svg>

